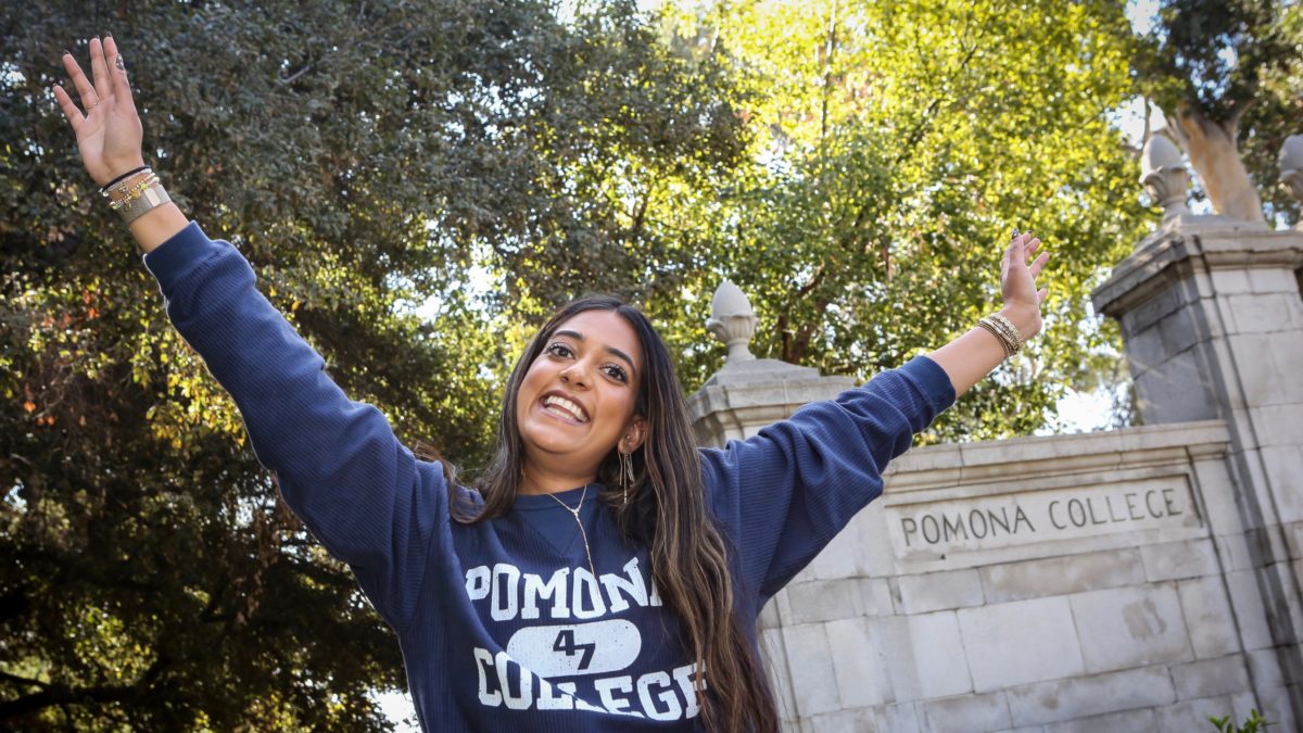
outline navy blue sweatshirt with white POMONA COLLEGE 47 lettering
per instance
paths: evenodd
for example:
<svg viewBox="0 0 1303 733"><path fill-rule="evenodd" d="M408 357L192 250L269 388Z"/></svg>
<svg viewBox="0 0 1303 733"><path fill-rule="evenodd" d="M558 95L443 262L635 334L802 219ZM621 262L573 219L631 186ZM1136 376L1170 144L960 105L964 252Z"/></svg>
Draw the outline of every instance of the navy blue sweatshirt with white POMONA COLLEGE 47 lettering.
<svg viewBox="0 0 1303 733"><path fill-rule="evenodd" d="M192 223L145 262L172 323L235 398L285 502L397 633L425 729L700 728L698 670L679 623L652 583L646 548L619 537L597 486L555 494L569 506L585 500L595 576L552 497L453 522L440 467L417 460L378 410L330 380L231 244ZM882 492L887 462L954 398L946 373L920 356L701 451L753 650L764 604Z"/></svg>

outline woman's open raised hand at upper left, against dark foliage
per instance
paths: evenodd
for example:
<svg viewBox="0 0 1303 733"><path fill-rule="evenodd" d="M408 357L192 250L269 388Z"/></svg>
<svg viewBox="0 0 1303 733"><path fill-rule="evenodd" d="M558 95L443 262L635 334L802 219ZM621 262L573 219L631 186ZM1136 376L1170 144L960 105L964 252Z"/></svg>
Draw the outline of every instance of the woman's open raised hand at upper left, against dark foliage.
<svg viewBox="0 0 1303 733"><path fill-rule="evenodd" d="M103 42L98 38L90 40L90 70L95 77L94 85L86 80L86 74L70 52L64 53L64 69L68 70L86 113L82 113L72 97L57 83L55 99L59 100L59 107L77 134L77 149L81 151L82 163L95 184L103 187L122 173L143 166L141 116L136 112L126 69L113 38L106 35Z"/></svg>

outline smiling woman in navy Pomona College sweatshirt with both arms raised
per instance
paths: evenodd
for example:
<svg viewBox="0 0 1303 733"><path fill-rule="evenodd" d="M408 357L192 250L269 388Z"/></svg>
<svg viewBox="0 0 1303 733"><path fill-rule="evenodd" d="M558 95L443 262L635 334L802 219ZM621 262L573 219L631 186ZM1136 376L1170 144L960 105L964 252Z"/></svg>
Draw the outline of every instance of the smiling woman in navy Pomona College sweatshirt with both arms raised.
<svg viewBox="0 0 1303 733"><path fill-rule="evenodd" d="M723 450L693 445L670 355L609 297L539 330L477 486L418 460L145 164L112 39L61 87L87 171L130 227L168 317L231 393L285 502L397 633L433 730L778 728L761 608L882 490L882 470L1040 330L1046 256L1015 236L1006 307L929 356ZM1032 257L1035 261L1028 262Z"/></svg>

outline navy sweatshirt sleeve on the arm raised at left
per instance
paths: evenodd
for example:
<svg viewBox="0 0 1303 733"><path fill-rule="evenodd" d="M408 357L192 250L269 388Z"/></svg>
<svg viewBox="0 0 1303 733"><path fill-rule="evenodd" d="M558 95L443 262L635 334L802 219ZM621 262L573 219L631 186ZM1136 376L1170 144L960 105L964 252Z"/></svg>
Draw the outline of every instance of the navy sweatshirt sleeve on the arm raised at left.
<svg viewBox="0 0 1303 733"><path fill-rule="evenodd" d="M344 395L229 243L192 222L145 265L172 325L235 399L285 502L401 627L448 514L443 472L417 462L377 408Z"/></svg>

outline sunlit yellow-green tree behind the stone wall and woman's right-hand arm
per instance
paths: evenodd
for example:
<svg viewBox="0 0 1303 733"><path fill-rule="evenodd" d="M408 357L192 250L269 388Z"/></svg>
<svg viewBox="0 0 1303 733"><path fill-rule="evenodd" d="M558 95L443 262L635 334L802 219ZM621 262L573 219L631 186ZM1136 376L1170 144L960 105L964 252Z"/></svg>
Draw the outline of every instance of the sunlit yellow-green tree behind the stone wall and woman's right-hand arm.
<svg viewBox="0 0 1303 733"><path fill-rule="evenodd" d="M713 241L684 290L737 282L761 318L757 353L860 378L899 365L998 308L1019 227L1054 253L1048 327L928 440L1025 434L1111 369L1117 334L1087 299L1145 227L1108 121L1132 94L1121 7L687 3L667 22L680 47L740 69L752 145L719 189L667 189L649 218ZM681 300L655 307L684 323L666 314ZM704 321L705 299L689 310ZM718 350L692 323L670 331L694 385Z"/></svg>

